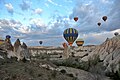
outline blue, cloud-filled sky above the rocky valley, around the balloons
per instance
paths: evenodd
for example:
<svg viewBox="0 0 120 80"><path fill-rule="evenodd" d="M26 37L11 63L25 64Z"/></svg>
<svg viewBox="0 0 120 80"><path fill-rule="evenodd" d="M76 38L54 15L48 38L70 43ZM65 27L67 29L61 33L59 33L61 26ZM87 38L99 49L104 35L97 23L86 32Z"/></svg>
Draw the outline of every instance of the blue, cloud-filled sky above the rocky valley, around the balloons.
<svg viewBox="0 0 120 80"><path fill-rule="evenodd" d="M99 45L120 33L119 1L0 0L0 37L10 35L12 44L19 38L28 46L62 46L67 43L64 30L75 28L84 45ZM74 21L76 16L78 21ZM103 16L108 17L106 22Z"/></svg>

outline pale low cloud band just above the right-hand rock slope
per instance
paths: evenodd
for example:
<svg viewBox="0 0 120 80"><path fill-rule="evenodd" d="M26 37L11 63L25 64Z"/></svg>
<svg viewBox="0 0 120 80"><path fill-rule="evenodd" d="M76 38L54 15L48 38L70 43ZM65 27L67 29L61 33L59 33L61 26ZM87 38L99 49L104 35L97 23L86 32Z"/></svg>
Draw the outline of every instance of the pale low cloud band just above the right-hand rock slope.
<svg viewBox="0 0 120 80"><path fill-rule="evenodd" d="M89 34L81 34L80 38L85 40L85 45L99 45L102 44L107 38L114 37L114 33L118 32L120 34L120 29L113 30L113 31L105 31L101 33L89 33Z"/></svg>

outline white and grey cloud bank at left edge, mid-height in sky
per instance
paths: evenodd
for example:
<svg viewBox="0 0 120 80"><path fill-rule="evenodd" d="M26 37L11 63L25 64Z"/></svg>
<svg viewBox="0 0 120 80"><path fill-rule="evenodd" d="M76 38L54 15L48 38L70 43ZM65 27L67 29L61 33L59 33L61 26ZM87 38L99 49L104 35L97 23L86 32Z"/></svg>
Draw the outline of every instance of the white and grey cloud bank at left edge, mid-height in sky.
<svg viewBox="0 0 120 80"><path fill-rule="evenodd" d="M30 27L24 26L21 22L15 20L0 19L0 27L3 32L8 34L29 33ZM1 32L2 32L1 31Z"/></svg>

